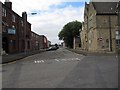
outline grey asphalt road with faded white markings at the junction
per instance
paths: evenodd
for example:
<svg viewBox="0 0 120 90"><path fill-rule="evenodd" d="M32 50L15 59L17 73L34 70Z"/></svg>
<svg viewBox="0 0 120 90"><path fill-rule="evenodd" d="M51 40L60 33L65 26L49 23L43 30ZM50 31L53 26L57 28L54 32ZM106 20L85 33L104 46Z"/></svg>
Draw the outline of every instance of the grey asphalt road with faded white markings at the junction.
<svg viewBox="0 0 120 90"><path fill-rule="evenodd" d="M3 65L2 79L3 88L117 88L118 58L60 48Z"/></svg>

